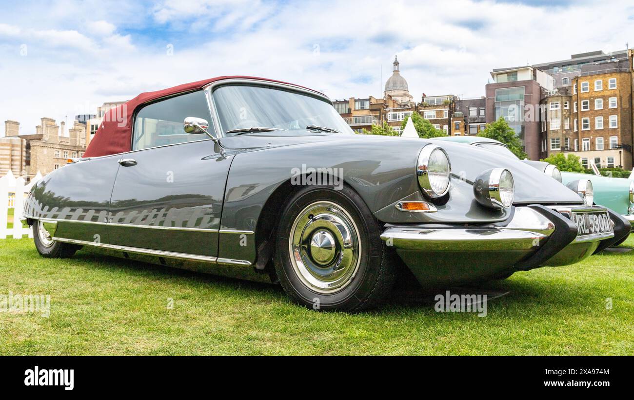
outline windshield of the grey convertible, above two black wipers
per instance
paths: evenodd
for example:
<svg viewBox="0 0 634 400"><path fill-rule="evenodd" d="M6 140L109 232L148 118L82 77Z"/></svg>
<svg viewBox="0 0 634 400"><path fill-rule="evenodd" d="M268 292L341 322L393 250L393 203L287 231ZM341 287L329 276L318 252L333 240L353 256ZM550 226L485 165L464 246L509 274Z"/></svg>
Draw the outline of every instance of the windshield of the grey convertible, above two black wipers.
<svg viewBox="0 0 634 400"><path fill-rule="evenodd" d="M320 131L314 129L320 127L354 134L332 105L306 94L271 87L231 85L218 87L213 97L223 132L233 131L226 136L245 132L237 131L240 129L254 131L248 131L250 128L299 133ZM313 129L306 131L306 127Z"/></svg>

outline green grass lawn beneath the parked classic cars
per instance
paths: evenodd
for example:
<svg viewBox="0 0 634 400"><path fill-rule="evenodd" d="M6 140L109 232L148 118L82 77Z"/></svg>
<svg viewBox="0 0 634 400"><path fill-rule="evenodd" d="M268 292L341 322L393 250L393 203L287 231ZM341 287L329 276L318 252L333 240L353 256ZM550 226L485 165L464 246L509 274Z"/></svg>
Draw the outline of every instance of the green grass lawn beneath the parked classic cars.
<svg viewBox="0 0 634 400"><path fill-rule="evenodd" d="M401 296L318 313L273 285L86 252L43 259L26 238L0 240L0 276L0 295L51 295L49 318L0 313L0 355L634 354L634 251L482 284L510 291L484 318Z"/></svg>

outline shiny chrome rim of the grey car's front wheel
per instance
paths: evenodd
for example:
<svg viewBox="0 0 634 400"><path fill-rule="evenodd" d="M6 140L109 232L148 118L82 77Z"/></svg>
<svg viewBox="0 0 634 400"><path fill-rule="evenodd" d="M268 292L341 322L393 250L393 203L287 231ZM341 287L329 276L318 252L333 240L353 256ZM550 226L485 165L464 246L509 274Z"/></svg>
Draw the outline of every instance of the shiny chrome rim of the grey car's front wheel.
<svg viewBox="0 0 634 400"><path fill-rule="evenodd" d="M339 205L316 202L295 218L289 238L297 277L315 292L343 290L359 269L361 243L353 218Z"/></svg>

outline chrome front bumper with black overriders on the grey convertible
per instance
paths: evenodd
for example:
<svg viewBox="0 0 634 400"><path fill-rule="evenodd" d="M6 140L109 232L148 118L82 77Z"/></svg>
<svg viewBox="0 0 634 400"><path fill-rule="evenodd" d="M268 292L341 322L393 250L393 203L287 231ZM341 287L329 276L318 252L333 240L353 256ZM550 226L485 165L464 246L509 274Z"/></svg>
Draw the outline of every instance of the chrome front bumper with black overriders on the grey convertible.
<svg viewBox="0 0 634 400"><path fill-rule="evenodd" d="M487 226L389 226L381 235L424 284L461 284L508 272L582 261L614 233L578 236L572 212L600 206L515 207L503 223ZM614 224L614 223L612 223Z"/></svg>

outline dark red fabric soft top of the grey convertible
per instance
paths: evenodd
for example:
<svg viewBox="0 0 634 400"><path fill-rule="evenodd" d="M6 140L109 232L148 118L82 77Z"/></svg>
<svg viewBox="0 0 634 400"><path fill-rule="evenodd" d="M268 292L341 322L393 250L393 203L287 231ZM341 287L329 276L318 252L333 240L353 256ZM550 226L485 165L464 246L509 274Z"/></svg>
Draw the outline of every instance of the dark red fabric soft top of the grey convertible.
<svg viewBox="0 0 634 400"><path fill-rule="evenodd" d="M207 84L224 79L257 79L259 81L287 83L275 81L274 79L249 77L249 76L221 76L203 81L190 82L167 89L157 90L153 92L141 93L124 105L113 108L103 117L101 125L97 129L94 138L91 140L84 157L101 157L103 155L111 155L129 152L132 144L132 126L134 111L141 105L159 98L170 96L172 94L184 93L202 89ZM298 85L295 85L298 86ZM303 86L300 86L303 87ZM304 89L308 89L304 87ZM313 90L313 89L309 89ZM318 93L318 92L316 92Z"/></svg>

